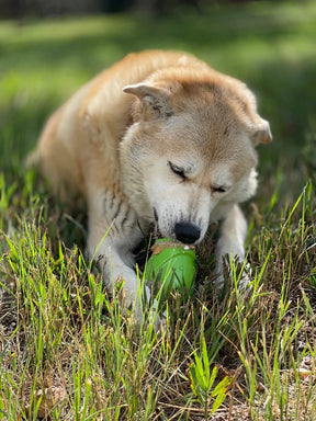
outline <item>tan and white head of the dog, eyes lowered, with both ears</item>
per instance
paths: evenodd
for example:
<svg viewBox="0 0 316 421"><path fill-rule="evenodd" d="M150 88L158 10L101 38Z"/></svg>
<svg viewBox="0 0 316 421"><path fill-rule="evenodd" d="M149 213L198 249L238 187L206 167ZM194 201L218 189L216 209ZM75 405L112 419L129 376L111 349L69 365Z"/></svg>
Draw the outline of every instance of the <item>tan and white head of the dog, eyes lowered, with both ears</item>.
<svg viewBox="0 0 316 421"><path fill-rule="evenodd" d="M255 146L271 141L269 123L244 83L211 68L160 70L124 91L136 95L121 150L125 192L162 236L198 243L255 193Z"/></svg>

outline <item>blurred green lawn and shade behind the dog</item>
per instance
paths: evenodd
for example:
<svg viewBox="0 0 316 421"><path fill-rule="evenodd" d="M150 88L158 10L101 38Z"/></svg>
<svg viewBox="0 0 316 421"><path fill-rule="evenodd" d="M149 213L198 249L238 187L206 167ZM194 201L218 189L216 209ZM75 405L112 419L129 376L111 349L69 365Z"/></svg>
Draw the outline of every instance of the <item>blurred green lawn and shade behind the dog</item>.
<svg viewBox="0 0 316 421"><path fill-rule="evenodd" d="M104 67L146 48L192 53L256 92L273 134L271 145L259 147L262 201L275 180L280 197L293 198L315 177L314 1L84 4L0 2L0 171L7 183L23 179L23 159L56 106Z"/></svg>

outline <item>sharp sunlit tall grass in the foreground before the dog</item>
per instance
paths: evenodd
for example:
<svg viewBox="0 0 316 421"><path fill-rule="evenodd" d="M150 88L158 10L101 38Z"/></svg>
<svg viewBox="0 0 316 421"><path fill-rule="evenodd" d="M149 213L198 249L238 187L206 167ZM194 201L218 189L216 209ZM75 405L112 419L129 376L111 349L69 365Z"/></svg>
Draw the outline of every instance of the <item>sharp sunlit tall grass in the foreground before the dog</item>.
<svg viewBox="0 0 316 421"><path fill-rule="evenodd" d="M253 419L300 420L308 412L312 420L314 386L305 377L314 376L315 355L313 193L307 184L279 225L268 212L270 220L256 235L253 228L246 296L232 262L225 295L204 294L207 282L187 301L174 294L160 334L150 316L137 326L122 312L120 291L109 298L78 248L59 239L52 248L49 213L38 213L41 198L33 196L33 212L2 236L3 413L198 420L212 419L219 402L233 417L241 399Z"/></svg>

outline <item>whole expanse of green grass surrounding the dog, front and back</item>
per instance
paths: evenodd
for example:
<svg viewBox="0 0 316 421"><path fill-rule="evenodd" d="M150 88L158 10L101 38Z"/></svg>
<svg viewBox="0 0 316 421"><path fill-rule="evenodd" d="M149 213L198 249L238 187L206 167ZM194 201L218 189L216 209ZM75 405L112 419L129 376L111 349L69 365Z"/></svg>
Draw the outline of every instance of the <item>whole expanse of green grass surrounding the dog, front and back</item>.
<svg viewBox="0 0 316 421"><path fill-rule="evenodd" d="M0 419L316 419L315 37L314 2L0 22ZM245 205L251 289L238 292L230 262L218 297L205 244L194 294L171 298L160 334L150 311L140 326L122 314L120 286L110 299L84 261L86 216L23 167L57 105L145 48L245 80L274 135Z"/></svg>

